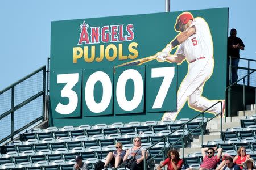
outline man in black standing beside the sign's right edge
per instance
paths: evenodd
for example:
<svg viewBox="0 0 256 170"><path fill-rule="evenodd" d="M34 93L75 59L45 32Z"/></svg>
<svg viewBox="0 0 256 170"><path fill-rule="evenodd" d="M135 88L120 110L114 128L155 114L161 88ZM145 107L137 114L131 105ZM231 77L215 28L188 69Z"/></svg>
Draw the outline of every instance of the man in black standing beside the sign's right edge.
<svg viewBox="0 0 256 170"><path fill-rule="evenodd" d="M230 37L228 37L228 66L230 64L230 57L231 57L232 83L236 82L238 79L237 67L238 67L239 58L240 58L240 54L239 54L240 50L245 50L245 45L243 44L243 41L237 37L237 30L232 28L230 30Z"/></svg>

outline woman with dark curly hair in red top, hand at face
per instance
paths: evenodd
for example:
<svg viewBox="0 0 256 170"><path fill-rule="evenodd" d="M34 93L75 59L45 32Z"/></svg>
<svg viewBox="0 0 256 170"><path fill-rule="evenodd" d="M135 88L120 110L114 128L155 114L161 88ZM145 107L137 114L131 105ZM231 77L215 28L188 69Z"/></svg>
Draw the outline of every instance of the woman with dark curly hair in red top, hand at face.
<svg viewBox="0 0 256 170"><path fill-rule="evenodd" d="M164 167L164 165L168 165L167 170L180 170L182 168L182 164L183 160L180 159L179 152L176 150L169 150L167 153L167 159L158 166L158 170Z"/></svg>

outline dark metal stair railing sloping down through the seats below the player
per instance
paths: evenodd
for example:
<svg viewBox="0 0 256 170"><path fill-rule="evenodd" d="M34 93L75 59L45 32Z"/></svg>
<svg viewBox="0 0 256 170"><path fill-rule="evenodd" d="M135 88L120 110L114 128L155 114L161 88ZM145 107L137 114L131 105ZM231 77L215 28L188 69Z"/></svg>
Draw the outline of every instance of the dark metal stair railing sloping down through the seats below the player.
<svg viewBox="0 0 256 170"><path fill-rule="evenodd" d="M176 143L178 143L178 142L180 142L180 141L182 141L182 154L183 154L182 156L184 157L184 149L185 149L185 148L184 148L184 139L187 138L189 135L191 135L194 131L196 131L196 130L199 129L199 128L201 128L201 145L203 145L203 143L204 143L204 126L205 126L209 121L213 120L213 118L215 118L215 117L217 117L217 116L220 116L220 117L221 117L221 118L220 118L220 126L221 126L221 133L222 133L222 109L221 109L221 112L220 112L220 113L214 115L212 118L210 118L209 120L207 120L206 122L204 122L204 113L207 112L210 108L214 107L214 105L217 105L218 103L221 104L221 108L222 108L222 104L223 104L222 101L218 101L217 103L213 104L211 107L209 107L208 109L206 109L205 111L203 111L203 112L197 114L197 116L193 117L191 120L185 122L185 123L184 123L183 125L181 125L179 128L175 129L174 131L172 131L172 132L169 133L168 135L165 135L165 136L164 136L163 138L161 138L158 142L156 142L156 143L154 143L153 145L151 145L150 147L148 147L148 148L146 149L146 152L147 152L148 150L150 150L152 147L154 147L155 145L157 145L158 143L164 142L164 144L163 144L163 150L160 151L158 154L156 154L155 156L151 157L151 158L148 159L148 160L146 160L146 156L144 156L144 162L143 162L143 163L144 163L144 165L143 165L143 166L144 166L144 169L146 169L147 164L150 163L151 160L153 160L154 158L156 158L156 156L159 156L160 154L163 155L163 160L164 160L164 158L165 158L165 152L166 152L168 149L170 149L170 148L172 148L173 146L175 146ZM185 135L185 126L187 126L187 125L189 124L189 122L192 122L193 120L195 120L195 119L196 119L197 117L199 117L199 116L202 116L201 125L200 125L200 126L197 126L197 128L193 129L192 131L189 131L189 133L188 133L187 135ZM176 142L172 143L170 146L168 146L168 147L166 148L167 138L168 138L170 135L174 134L176 131L181 130L181 129L183 130L182 138L178 139ZM119 165L119 166L118 166L117 168L115 168L115 169L118 169L118 168L123 167L123 166L125 166L125 164L121 164L121 165Z"/></svg>

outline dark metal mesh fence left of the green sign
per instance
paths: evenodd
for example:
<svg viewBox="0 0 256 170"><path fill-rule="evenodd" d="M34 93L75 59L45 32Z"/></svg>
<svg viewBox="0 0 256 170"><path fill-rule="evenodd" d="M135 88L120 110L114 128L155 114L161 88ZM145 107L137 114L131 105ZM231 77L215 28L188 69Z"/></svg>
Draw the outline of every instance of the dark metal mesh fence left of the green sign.
<svg viewBox="0 0 256 170"><path fill-rule="evenodd" d="M0 143L44 120L46 66L0 91Z"/></svg>

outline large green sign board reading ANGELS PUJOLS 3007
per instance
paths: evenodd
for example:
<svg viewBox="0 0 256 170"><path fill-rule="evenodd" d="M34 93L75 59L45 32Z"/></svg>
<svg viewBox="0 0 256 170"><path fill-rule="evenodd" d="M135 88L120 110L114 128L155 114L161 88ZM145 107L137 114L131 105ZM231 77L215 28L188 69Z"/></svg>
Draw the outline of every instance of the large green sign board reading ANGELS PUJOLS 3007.
<svg viewBox="0 0 256 170"><path fill-rule="evenodd" d="M228 8L52 22L52 125L195 116L224 99L227 31Z"/></svg>

